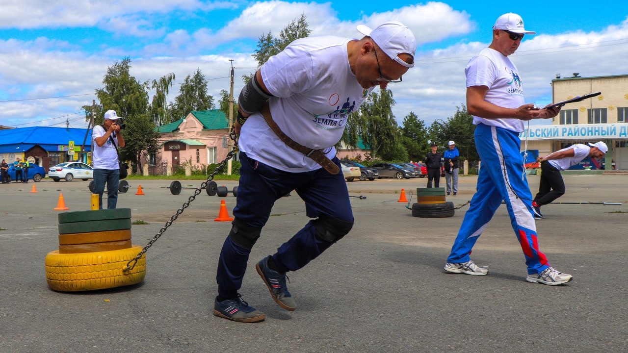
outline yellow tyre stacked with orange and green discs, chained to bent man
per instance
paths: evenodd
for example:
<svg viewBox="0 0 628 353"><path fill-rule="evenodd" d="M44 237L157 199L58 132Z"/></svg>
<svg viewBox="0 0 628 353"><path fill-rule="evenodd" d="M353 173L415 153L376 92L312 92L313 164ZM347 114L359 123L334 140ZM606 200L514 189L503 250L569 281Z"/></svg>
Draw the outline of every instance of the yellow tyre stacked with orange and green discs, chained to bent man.
<svg viewBox="0 0 628 353"><path fill-rule="evenodd" d="M46 255L46 281L57 291L134 285L146 276L146 257L122 271L142 250L131 244L131 209L64 212L59 249Z"/></svg>

